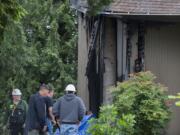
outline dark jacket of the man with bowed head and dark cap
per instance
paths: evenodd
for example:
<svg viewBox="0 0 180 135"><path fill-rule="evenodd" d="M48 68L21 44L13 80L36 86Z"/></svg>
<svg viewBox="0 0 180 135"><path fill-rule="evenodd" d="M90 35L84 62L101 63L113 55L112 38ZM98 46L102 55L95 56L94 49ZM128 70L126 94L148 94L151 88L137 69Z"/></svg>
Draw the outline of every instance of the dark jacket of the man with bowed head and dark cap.
<svg viewBox="0 0 180 135"><path fill-rule="evenodd" d="M39 93L30 97L26 123L28 131L33 129L41 131L46 125L46 104L44 97Z"/></svg>

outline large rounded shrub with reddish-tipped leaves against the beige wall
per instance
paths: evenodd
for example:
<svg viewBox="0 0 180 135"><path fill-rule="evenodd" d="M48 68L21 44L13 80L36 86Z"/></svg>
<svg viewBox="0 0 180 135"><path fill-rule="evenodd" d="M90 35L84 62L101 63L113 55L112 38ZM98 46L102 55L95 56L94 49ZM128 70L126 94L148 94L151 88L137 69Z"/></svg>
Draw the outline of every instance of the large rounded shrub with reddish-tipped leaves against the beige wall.
<svg viewBox="0 0 180 135"><path fill-rule="evenodd" d="M161 135L170 119L167 89L155 82L150 72L132 75L128 81L119 83L113 89L113 103L118 114L135 116L134 135Z"/></svg>

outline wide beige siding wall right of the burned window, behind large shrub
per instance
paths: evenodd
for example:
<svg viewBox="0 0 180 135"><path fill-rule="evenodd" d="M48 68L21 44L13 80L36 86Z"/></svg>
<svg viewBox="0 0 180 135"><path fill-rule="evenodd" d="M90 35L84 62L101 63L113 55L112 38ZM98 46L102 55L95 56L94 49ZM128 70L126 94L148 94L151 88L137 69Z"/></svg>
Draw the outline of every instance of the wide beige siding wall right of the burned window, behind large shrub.
<svg viewBox="0 0 180 135"><path fill-rule="evenodd" d="M145 67L157 80L169 88L169 93L180 92L180 25L149 26L145 41ZM173 119L168 135L180 135L180 108L173 106Z"/></svg>

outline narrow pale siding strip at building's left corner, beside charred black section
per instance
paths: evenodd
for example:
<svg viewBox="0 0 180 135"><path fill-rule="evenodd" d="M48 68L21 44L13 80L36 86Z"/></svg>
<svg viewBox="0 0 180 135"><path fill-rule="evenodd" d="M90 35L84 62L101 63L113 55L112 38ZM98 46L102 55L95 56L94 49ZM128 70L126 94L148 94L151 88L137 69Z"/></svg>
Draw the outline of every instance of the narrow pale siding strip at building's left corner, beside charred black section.
<svg viewBox="0 0 180 135"><path fill-rule="evenodd" d="M86 21L82 18L81 14L78 17L78 95L82 97L89 107L89 92L88 92L88 80L85 76L87 58L88 58L88 44L87 44L87 34L86 34Z"/></svg>

